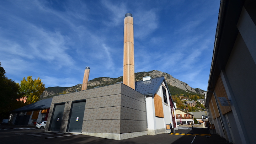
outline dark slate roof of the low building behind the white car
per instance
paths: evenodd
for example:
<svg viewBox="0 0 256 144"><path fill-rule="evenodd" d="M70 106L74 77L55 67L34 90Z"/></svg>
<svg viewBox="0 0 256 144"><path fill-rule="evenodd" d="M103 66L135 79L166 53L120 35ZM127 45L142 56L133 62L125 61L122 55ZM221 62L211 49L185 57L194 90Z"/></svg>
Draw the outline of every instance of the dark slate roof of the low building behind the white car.
<svg viewBox="0 0 256 144"><path fill-rule="evenodd" d="M13 110L11 112L25 112L25 111L34 111L34 110L44 110L50 108L50 105L52 103L52 98L47 98L41 101L34 102L30 105L26 105L23 107L20 107L16 110Z"/></svg>

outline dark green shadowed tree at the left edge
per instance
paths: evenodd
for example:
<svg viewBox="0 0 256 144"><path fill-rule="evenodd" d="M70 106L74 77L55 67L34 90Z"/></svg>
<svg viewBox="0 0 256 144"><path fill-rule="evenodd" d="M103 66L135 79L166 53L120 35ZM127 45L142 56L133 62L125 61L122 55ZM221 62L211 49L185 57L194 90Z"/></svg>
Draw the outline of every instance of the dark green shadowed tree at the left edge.
<svg viewBox="0 0 256 144"><path fill-rule="evenodd" d="M5 76L5 70L0 63L0 121L3 118L9 118L10 111L25 106L18 101L19 85Z"/></svg>

